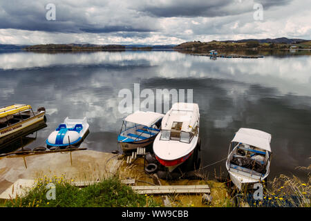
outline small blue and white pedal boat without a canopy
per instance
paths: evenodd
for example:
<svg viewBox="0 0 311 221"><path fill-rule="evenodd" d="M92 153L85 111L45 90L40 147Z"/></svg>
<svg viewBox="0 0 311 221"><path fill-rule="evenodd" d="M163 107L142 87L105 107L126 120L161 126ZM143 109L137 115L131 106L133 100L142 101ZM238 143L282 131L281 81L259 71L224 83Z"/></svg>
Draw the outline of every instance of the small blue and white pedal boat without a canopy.
<svg viewBox="0 0 311 221"><path fill-rule="evenodd" d="M50 133L46 144L51 146L77 146L88 134L88 122L86 117L83 119L69 119L66 117L64 123L59 124L55 131Z"/></svg>

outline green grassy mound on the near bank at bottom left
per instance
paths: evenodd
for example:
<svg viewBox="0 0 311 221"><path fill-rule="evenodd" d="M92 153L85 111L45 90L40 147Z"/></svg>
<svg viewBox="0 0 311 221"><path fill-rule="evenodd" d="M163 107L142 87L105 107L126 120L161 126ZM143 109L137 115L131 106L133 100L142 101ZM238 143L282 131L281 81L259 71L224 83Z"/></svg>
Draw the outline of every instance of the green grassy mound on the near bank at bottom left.
<svg viewBox="0 0 311 221"><path fill-rule="evenodd" d="M103 179L100 182L79 188L73 180L65 177L44 177L36 180L32 189L23 196L7 200L5 206L13 207L137 207L160 206L152 196L134 193L131 187L122 184L117 177ZM48 200L48 183L55 184L55 200Z"/></svg>

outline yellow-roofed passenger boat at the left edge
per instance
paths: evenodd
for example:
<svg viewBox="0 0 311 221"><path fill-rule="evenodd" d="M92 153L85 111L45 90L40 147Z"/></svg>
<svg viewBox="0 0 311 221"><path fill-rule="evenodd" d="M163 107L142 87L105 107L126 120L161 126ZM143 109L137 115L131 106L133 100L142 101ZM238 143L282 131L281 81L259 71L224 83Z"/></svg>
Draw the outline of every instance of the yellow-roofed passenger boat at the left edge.
<svg viewBox="0 0 311 221"><path fill-rule="evenodd" d="M35 112L30 105L14 104L0 108L0 138L17 133L28 126L45 121L45 108Z"/></svg>

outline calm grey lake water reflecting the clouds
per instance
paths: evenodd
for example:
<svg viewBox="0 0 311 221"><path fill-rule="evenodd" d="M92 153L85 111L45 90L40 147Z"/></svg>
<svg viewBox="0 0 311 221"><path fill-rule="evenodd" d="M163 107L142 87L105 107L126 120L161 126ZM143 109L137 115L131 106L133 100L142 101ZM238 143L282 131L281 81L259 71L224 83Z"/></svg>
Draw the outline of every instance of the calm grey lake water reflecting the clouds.
<svg viewBox="0 0 311 221"><path fill-rule="evenodd" d="M310 51L308 51L310 55ZM288 55L288 56L287 56ZM227 157L238 128L272 134L270 178L281 173L305 179L311 147L311 57L265 56L216 60L176 51L37 53L0 52L0 104L46 108L47 127L28 144L42 146L67 116L86 116L90 134L82 146L117 148L126 113L118 97L127 88L193 89L200 108L203 166ZM143 100L143 98L142 98ZM225 171L225 162L207 171Z"/></svg>

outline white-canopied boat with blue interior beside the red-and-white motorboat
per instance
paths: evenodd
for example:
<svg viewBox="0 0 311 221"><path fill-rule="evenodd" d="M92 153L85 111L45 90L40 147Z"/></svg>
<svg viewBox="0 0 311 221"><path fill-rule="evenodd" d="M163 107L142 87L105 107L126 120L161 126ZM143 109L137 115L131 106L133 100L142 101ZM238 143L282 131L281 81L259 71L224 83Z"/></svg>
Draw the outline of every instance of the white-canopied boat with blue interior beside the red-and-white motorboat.
<svg viewBox="0 0 311 221"><path fill-rule="evenodd" d="M160 126L164 115L151 111L136 111L123 120L117 143L122 151L130 151L138 147L144 147L153 142L160 132Z"/></svg>

